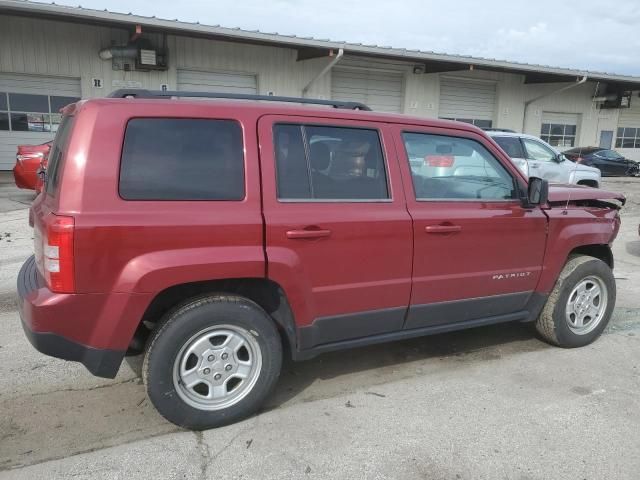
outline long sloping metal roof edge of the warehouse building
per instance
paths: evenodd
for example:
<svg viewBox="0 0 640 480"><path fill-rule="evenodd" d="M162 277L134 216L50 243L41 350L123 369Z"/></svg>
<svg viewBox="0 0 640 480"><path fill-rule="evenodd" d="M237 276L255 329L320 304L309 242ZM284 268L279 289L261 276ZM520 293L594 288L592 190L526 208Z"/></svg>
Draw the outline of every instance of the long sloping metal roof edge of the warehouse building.
<svg viewBox="0 0 640 480"><path fill-rule="evenodd" d="M53 18L67 22L93 23L99 25L141 25L142 27L146 27L147 30L156 32L287 47L298 50L299 59L320 56L320 52L324 52L326 55L327 50L342 48L345 53L354 55L404 60L423 64L426 67L426 73L469 70L473 68L523 74L525 75L526 83L571 82L575 81L578 77L586 76L593 81L616 83L621 88L640 90L639 76L592 72L588 70L534 65L492 58L452 55L406 48L364 45L360 43L316 39L313 37L265 33L259 30L249 31L240 28L222 27L220 25L183 22L177 19L168 20L156 18L155 16L147 17L134 15L132 13L110 12L107 9L95 10L27 0L0 0L0 13Z"/></svg>

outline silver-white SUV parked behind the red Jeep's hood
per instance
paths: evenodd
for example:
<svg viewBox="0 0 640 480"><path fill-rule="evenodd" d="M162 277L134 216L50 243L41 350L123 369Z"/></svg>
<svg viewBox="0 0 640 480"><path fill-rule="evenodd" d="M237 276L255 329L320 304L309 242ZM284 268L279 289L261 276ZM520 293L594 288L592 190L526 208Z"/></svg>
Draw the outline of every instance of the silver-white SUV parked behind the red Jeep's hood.
<svg viewBox="0 0 640 480"><path fill-rule="evenodd" d="M523 133L488 131L511 160L529 176L554 183L573 183L599 187L601 174L597 168L567 162L564 155L544 140Z"/></svg>

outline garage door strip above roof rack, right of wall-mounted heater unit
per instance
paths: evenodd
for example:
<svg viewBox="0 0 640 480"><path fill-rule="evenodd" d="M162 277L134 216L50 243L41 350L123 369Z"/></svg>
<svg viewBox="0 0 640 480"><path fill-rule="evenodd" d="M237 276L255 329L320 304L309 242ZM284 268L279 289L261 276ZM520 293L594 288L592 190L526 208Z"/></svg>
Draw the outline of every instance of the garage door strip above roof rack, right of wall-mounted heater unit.
<svg viewBox="0 0 640 480"><path fill-rule="evenodd" d="M178 70L178 90L209 93L258 93L255 75Z"/></svg>

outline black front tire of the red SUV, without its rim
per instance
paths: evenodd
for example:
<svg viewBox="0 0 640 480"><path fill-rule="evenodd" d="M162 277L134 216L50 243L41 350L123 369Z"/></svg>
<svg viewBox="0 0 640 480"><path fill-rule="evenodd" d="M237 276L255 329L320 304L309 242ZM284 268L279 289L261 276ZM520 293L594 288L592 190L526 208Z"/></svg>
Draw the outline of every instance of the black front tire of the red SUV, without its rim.
<svg viewBox="0 0 640 480"><path fill-rule="evenodd" d="M566 316L567 302L573 289L587 277L596 277L606 286L607 305L604 314L593 330L575 333ZM604 295L603 295L604 297ZM611 268L602 260L589 256L572 256L565 264L556 285L535 322L541 337L558 347L576 348L595 341L607 327L616 303L616 283Z"/></svg>

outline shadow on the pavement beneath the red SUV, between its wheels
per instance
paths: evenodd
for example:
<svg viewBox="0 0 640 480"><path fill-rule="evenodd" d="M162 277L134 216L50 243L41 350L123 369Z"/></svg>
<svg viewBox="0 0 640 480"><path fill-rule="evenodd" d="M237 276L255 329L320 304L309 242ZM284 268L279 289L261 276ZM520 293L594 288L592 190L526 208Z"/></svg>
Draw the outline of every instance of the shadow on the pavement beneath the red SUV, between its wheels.
<svg viewBox="0 0 640 480"><path fill-rule="evenodd" d="M531 325L506 323L325 353L304 362L285 357L263 411L545 348L551 347L536 338Z"/></svg>

